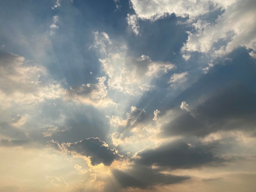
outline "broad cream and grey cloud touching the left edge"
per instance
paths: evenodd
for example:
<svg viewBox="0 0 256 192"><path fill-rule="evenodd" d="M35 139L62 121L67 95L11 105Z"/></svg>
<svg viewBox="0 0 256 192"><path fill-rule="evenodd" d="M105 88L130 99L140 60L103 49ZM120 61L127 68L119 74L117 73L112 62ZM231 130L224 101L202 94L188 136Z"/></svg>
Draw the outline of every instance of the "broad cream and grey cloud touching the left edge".
<svg viewBox="0 0 256 192"><path fill-rule="evenodd" d="M28 65L24 57L1 51L0 105L31 104L61 97L63 89L48 77L44 67Z"/></svg>

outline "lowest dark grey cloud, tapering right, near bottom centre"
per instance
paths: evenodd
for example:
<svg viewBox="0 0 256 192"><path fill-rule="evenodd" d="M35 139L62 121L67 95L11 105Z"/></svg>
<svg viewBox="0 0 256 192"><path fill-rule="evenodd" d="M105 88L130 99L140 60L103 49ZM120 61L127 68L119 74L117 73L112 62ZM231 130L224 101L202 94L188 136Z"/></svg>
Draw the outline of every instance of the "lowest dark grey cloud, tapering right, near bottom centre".
<svg viewBox="0 0 256 192"><path fill-rule="evenodd" d="M190 178L189 176L163 174L158 170L151 169L143 165L135 165L132 169L126 170L125 172L118 169L112 169L111 172L121 185L121 188L148 188L157 184L168 185L180 183Z"/></svg>

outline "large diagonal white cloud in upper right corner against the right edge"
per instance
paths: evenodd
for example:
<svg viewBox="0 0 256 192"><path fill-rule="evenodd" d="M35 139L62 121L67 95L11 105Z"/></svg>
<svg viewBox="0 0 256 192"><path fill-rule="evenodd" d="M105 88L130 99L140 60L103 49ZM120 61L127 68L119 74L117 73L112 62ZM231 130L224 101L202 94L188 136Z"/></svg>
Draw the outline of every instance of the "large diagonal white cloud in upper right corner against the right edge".
<svg viewBox="0 0 256 192"><path fill-rule="evenodd" d="M194 51L214 57L225 56L238 47L245 47L254 57L256 52L256 17L254 0L236 1L228 6L215 21L197 20L194 32L182 47L185 57Z"/></svg>

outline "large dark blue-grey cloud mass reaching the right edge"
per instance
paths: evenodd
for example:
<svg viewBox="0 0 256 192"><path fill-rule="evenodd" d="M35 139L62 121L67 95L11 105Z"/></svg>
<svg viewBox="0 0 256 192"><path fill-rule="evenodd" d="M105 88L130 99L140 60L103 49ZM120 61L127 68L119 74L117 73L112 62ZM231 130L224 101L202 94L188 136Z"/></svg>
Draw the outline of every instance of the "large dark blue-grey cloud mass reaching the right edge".
<svg viewBox="0 0 256 192"><path fill-rule="evenodd" d="M255 130L256 94L240 83L214 90L192 113L173 109L177 114L162 126L162 135L205 136L218 130Z"/></svg>

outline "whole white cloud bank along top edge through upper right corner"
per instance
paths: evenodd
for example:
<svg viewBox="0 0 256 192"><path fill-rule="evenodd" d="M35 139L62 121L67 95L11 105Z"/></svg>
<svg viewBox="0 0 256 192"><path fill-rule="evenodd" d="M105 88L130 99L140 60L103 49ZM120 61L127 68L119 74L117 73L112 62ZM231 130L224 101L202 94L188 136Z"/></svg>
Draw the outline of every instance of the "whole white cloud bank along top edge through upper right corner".
<svg viewBox="0 0 256 192"><path fill-rule="evenodd" d="M249 55L256 53L256 9L254 0L195 1L195 0L130 0L137 18L158 20L174 13L177 17L189 18L193 31L187 31L188 39L181 51L188 60L191 52L210 54L213 58L225 56L238 47L245 47ZM216 20L209 21L208 13L222 10ZM129 24L130 25L130 24ZM136 25L136 27L139 27ZM135 31L136 32L136 31Z"/></svg>

